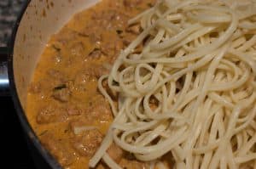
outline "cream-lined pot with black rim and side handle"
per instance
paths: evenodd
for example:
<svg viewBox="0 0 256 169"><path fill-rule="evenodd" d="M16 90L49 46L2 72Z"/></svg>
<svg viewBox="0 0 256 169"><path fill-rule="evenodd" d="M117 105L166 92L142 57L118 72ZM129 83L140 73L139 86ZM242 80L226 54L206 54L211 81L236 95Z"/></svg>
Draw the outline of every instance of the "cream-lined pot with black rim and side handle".
<svg viewBox="0 0 256 169"><path fill-rule="evenodd" d="M49 37L99 0L30 0L15 23L8 48L0 48L0 95L11 95L38 168L61 168L40 144L26 119L26 94Z"/></svg>

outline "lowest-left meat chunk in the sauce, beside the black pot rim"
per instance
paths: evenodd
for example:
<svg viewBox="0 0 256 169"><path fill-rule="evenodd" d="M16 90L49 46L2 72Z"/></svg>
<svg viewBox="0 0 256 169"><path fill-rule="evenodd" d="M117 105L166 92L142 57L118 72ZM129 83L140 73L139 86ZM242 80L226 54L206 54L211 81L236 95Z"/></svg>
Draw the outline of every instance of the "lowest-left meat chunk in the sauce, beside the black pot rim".
<svg viewBox="0 0 256 169"><path fill-rule="evenodd" d="M61 166L69 166L75 161L75 152L66 140L56 139L51 133L45 133L40 140L44 147L49 149L50 153L60 162Z"/></svg>

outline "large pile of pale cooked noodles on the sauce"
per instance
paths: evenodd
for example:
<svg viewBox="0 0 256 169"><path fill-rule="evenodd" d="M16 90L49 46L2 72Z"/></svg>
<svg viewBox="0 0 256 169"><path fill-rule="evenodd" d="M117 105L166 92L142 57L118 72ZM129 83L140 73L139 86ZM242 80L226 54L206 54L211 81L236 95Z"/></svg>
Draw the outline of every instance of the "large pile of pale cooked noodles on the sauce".
<svg viewBox="0 0 256 169"><path fill-rule="evenodd" d="M167 168L256 168L256 1L162 0L98 87L114 120L90 159L120 168L111 144ZM107 81L118 106L102 87Z"/></svg>

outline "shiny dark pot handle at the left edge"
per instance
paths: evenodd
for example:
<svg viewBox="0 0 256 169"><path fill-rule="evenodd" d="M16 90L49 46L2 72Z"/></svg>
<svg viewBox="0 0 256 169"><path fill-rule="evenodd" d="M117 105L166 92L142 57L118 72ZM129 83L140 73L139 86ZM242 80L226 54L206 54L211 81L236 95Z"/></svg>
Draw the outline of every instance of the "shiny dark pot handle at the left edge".
<svg viewBox="0 0 256 169"><path fill-rule="evenodd" d="M0 97L9 96L8 55L9 49L0 47Z"/></svg>

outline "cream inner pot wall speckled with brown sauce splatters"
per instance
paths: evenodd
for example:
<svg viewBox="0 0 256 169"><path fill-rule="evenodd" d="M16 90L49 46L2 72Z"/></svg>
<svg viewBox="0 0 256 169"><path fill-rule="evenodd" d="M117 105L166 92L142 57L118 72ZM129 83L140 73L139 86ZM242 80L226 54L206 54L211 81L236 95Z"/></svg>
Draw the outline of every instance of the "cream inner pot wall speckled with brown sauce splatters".
<svg viewBox="0 0 256 169"><path fill-rule="evenodd" d="M26 93L38 58L49 37L59 31L73 14L99 0L32 0L19 23L15 37L13 67L15 87L23 110Z"/></svg>

